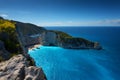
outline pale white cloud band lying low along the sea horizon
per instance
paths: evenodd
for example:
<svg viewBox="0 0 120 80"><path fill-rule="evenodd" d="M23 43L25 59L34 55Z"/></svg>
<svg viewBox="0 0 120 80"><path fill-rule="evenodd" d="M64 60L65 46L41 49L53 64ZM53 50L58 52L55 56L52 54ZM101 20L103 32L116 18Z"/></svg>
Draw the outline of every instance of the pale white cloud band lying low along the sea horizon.
<svg viewBox="0 0 120 80"><path fill-rule="evenodd" d="M120 26L120 19L106 19L98 21L66 21L66 22L44 22L40 26Z"/></svg>

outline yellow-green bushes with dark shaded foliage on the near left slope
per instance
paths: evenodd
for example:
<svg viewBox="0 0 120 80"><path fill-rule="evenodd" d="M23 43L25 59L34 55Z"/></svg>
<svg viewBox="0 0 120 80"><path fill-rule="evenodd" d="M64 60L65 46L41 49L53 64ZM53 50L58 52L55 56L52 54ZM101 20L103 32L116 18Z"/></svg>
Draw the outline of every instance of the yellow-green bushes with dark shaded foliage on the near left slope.
<svg viewBox="0 0 120 80"><path fill-rule="evenodd" d="M0 19L0 40L4 42L5 48L11 55L21 53L21 46L18 42L15 22Z"/></svg>

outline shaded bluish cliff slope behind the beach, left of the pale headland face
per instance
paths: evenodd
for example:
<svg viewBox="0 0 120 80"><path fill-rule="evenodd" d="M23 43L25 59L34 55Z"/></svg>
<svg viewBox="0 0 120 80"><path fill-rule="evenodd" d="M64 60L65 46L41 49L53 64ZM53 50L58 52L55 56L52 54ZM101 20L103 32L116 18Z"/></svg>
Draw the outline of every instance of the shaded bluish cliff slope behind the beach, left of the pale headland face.
<svg viewBox="0 0 120 80"><path fill-rule="evenodd" d="M25 53L27 53L28 48L30 46L41 44L40 35L43 32L46 32L45 28L38 27L30 23L22 23L18 21L14 21L14 22L16 23L15 26L16 26L19 42L21 43ZM36 37L36 35L39 36ZM31 37L31 36L35 36L35 37Z"/></svg>

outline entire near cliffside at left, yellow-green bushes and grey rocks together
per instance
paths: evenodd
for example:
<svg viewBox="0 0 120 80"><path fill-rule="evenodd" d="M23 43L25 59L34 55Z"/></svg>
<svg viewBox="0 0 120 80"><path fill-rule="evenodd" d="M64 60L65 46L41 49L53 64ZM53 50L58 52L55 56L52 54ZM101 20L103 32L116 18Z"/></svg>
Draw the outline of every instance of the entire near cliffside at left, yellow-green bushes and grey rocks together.
<svg viewBox="0 0 120 80"><path fill-rule="evenodd" d="M19 35L25 32L17 31L16 24L0 18L0 80L46 80L42 69L27 54L24 37Z"/></svg>

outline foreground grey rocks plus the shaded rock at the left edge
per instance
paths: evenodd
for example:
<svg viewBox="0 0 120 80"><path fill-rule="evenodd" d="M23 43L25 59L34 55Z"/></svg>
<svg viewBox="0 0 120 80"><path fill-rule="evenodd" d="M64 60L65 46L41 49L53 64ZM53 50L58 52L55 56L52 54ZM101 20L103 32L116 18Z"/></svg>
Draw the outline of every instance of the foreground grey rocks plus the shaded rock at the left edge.
<svg viewBox="0 0 120 80"><path fill-rule="evenodd" d="M5 50L2 41L0 56L4 60L0 63L0 80L47 80L42 68L35 66L29 54L18 54L10 58L10 53Z"/></svg>

